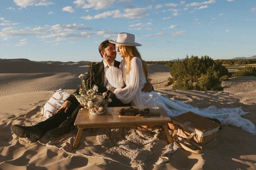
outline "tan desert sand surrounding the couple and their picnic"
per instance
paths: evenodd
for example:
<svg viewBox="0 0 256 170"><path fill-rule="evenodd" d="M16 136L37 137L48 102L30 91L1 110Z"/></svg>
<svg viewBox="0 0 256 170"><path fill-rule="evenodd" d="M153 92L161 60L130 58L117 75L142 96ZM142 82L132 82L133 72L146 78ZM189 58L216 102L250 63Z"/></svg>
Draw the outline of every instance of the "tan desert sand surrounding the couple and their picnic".
<svg viewBox="0 0 256 170"><path fill-rule="evenodd" d="M11 133L12 124L29 125L40 119L41 108L59 88L74 92L88 62L33 62L0 60L0 169L132 169L108 159L72 155L39 143L28 143ZM170 68L148 65L155 91L197 107L242 107L256 124L256 77L236 77L222 82L224 91L170 90ZM232 126L223 126L216 142L203 154L182 149L170 161L151 169L256 169L256 137Z"/></svg>

